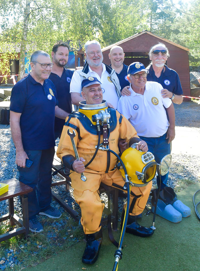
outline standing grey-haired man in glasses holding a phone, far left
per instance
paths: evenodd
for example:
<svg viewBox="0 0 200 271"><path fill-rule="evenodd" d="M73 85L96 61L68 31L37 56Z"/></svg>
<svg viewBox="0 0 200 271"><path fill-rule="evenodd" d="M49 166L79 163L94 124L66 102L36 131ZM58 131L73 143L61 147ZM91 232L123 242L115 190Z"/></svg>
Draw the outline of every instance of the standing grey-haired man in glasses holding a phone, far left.
<svg viewBox="0 0 200 271"><path fill-rule="evenodd" d="M10 127L16 147L19 181L33 188L28 194L29 228L43 231L36 215L59 218L61 212L51 207L51 168L54 159L54 118L65 119L69 113L57 104L56 88L49 75L50 56L44 51L31 55L31 74L14 85L11 92ZM26 159L33 161L28 168Z"/></svg>

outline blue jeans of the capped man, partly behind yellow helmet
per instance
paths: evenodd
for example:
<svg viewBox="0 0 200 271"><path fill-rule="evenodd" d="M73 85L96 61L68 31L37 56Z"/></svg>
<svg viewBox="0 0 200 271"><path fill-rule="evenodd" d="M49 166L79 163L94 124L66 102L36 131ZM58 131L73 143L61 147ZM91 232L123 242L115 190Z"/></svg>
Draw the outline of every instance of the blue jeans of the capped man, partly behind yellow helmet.
<svg viewBox="0 0 200 271"><path fill-rule="evenodd" d="M147 143L148 151L152 152L155 157L155 161L157 163L160 163L162 158L166 154L170 154L171 148L170 143L168 144L168 139L166 139L167 133L165 133L161 137L140 137L142 140L144 140ZM163 176L161 176L161 188L164 188L168 180L169 172ZM159 185L159 176L157 176L157 185Z"/></svg>

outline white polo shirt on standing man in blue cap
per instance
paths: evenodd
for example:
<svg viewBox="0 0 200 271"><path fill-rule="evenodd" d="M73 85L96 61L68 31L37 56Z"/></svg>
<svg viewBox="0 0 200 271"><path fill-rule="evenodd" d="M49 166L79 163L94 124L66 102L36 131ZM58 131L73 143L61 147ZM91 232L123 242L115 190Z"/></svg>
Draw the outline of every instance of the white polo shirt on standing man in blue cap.
<svg viewBox="0 0 200 271"><path fill-rule="evenodd" d="M129 120L138 136L160 137L169 127L165 108L171 105L169 98L162 98L163 87L157 82L146 82L144 95L134 92L121 96L117 110ZM165 107L165 108L164 108Z"/></svg>

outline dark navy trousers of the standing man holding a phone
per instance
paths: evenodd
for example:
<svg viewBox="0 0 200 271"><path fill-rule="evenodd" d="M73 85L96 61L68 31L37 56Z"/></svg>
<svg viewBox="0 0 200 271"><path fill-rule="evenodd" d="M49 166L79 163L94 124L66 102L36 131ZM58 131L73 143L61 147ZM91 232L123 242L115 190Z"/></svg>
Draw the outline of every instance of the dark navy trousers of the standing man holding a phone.
<svg viewBox="0 0 200 271"><path fill-rule="evenodd" d="M51 204L51 169L54 159L54 147L46 150L25 150L29 159L33 161L30 168L17 167L19 181L29 185L33 191L28 193L29 219L39 212L50 208Z"/></svg>

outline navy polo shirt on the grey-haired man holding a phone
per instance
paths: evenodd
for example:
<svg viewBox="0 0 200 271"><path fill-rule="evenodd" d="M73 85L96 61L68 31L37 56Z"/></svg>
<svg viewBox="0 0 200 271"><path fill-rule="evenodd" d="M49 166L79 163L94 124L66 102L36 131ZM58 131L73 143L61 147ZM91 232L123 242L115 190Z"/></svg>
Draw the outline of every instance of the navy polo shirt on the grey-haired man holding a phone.
<svg viewBox="0 0 200 271"><path fill-rule="evenodd" d="M54 118L56 88L51 80L43 85L29 74L14 85L10 110L21 113L20 128L24 149L43 150L55 146Z"/></svg>

